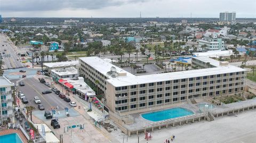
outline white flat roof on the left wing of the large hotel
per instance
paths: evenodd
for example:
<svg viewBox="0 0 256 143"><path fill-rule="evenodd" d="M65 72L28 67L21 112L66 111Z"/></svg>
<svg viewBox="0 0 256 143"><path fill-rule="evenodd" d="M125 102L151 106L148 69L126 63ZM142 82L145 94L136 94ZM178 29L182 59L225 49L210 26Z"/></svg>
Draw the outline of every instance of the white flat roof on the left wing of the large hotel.
<svg viewBox="0 0 256 143"><path fill-rule="evenodd" d="M99 71L100 73L102 73L103 75L108 77L109 79L111 79L112 77L109 74L107 74L107 72L109 72L111 67L113 67L113 66L116 68L117 73L126 73L126 76L124 76L124 77L136 77L135 75L131 74L130 72L127 72L127 71L119 68L118 66L115 66L97 56L79 57L79 59L84 61L85 63L89 64L95 70Z"/></svg>

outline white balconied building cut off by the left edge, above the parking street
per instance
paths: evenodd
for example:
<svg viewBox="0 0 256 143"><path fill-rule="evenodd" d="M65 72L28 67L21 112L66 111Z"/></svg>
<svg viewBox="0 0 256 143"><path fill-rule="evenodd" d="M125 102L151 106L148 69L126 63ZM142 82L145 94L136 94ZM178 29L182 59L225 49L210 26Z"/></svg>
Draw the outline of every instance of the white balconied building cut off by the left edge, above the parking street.
<svg viewBox="0 0 256 143"><path fill-rule="evenodd" d="M14 86L10 80L5 77L0 77L0 119L1 124L4 121L9 120L10 122L14 122L14 114L13 114L13 98L12 98L12 89Z"/></svg>

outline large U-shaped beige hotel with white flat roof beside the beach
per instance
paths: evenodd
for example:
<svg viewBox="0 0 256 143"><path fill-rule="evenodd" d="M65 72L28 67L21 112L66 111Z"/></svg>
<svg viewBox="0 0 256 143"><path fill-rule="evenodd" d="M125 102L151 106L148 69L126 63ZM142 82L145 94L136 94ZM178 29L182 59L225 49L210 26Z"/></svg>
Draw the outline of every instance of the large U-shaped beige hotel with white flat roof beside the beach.
<svg viewBox="0 0 256 143"><path fill-rule="evenodd" d="M192 57L191 66L197 70L140 76L99 57L82 57L79 62L85 78L100 80L110 111L123 115L167 108L193 98L235 94L244 90L246 79L246 70L209 57Z"/></svg>

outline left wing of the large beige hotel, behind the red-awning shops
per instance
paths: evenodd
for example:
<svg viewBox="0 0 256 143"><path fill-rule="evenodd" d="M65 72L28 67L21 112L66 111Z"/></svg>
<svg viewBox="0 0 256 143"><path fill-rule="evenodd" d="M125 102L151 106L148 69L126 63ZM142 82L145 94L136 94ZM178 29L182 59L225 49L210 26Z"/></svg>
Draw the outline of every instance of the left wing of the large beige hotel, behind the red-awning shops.
<svg viewBox="0 0 256 143"><path fill-rule="evenodd" d="M135 77L118 66L115 66L100 57L79 57L79 73L93 82L102 92L106 92L106 80L116 77ZM97 83L98 82L98 83Z"/></svg>

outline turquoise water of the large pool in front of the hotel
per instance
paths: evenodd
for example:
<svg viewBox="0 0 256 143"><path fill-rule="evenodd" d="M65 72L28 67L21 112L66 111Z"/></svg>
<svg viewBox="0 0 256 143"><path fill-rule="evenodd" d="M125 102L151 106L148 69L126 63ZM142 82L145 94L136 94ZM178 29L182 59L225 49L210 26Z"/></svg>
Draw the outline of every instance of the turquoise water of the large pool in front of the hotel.
<svg viewBox="0 0 256 143"><path fill-rule="evenodd" d="M194 114L192 111L185 108L171 108L168 110L156 111L151 113L141 114L141 117L150 121L162 121L172 119L174 117L186 116Z"/></svg>

